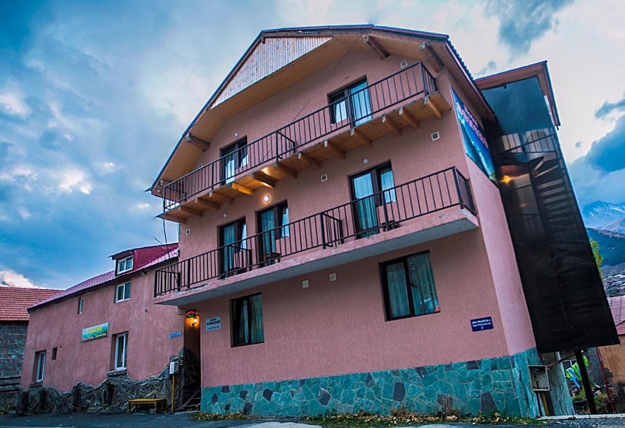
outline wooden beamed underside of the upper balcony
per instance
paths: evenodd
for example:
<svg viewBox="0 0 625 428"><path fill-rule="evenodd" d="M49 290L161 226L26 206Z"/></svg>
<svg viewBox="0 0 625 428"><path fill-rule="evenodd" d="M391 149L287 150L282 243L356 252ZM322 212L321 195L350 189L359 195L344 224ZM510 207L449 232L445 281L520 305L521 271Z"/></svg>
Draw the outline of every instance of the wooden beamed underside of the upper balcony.
<svg viewBox="0 0 625 428"><path fill-rule="evenodd" d="M427 102L423 98L416 99L386 114L380 114L353 129L346 127L324 140L307 144L279 162L264 164L254 171L236 176L232 182L183 199L178 207L158 217L185 223L189 217L202 216L204 211L219 209L222 204L231 203L237 197L253 196L254 191L261 187L274 187L276 181L296 178L297 172L304 168L318 168L321 162L334 157L345 157L345 152L356 147L371 147L372 142L382 136L392 133L399 135L402 129L417 128L420 121L432 117L441 119L442 112L450 109L451 107L439 92L431 94Z"/></svg>

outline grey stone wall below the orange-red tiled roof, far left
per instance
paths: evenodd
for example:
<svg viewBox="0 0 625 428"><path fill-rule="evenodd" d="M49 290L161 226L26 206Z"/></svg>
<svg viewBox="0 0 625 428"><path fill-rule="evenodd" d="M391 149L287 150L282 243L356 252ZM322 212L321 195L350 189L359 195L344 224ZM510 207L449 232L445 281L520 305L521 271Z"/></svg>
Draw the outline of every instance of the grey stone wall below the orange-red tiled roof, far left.
<svg viewBox="0 0 625 428"><path fill-rule="evenodd" d="M27 329L27 321L0 322L0 409L16 407Z"/></svg>

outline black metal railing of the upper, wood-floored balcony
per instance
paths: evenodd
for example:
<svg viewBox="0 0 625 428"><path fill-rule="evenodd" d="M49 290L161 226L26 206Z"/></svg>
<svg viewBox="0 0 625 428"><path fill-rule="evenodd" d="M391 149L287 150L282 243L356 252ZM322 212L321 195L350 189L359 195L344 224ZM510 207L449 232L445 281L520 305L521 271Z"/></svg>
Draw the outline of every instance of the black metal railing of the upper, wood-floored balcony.
<svg viewBox="0 0 625 428"><path fill-rule="evenodd" d="M292 156L304 146L379 117L397 104L436 91L434 77L417 62L166 184L163 209L169 211L202 192Z"/></svg>

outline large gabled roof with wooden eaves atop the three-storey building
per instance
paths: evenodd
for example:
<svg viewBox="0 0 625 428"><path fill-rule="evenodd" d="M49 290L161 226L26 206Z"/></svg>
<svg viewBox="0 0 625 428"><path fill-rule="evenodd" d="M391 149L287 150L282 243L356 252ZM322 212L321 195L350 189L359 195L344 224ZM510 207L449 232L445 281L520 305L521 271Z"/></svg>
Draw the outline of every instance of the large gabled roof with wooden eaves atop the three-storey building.
<svg viewBox="0 0 625 428"><path fill-rule="evenodd" d="M316 69L339 61L356 42L365 44L363 39L366 37L374 37L376 44L382 44L389 52L422 56L437 67L447 67L454 79L465 87L481 116L494 119L490 107L447 34L372 24L268 29L258 34L187 126L148 191L158 195L156 189L161 179L173 181L191 172L206 144L227 119L274 93L271 91L279 86L272 81L277 79L276 71L281 70L279 76L289 76L292 81L303 79ZM284 43L285 39L294 38L298 40L296 43ZM421 45L424 41L427 46ZM260 61L250 61L256 57ZM272 89L267 91L270 81ZM242 99L244 94L246 99ZM203 148L202 144L196 144L198 139L204 144ZM170 164L174 166L170 167Z"/></svg>

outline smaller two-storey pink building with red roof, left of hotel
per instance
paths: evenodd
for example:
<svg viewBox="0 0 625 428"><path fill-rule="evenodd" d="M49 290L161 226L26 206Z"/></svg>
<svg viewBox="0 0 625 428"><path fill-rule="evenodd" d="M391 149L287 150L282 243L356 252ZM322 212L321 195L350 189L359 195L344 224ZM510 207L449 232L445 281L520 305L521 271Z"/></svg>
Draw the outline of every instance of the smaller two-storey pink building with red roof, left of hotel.
<svg viewBox="0 0 625 428"><path fill-rule="evenodd" d="M154 270L177 256L178 244L119 252L111 256L113 271L31 306L21 379L29 391L19 410L123 408L129 394L171 391L163 379L143 380L160 375L181 354L183 330L190 327L175 307L154 304ZM94 395L88 385L103 387ZM41 387L47 388L47 407Z"/></svg>

